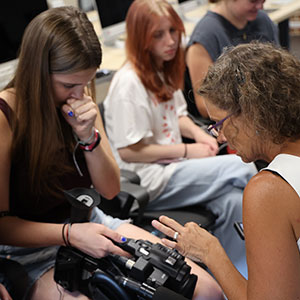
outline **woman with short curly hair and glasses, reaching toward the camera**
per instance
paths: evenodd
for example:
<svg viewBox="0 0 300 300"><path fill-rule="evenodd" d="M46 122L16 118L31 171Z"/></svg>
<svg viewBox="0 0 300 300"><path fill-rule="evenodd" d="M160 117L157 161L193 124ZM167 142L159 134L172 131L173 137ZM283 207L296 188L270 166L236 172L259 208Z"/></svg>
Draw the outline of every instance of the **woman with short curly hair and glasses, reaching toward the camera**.
<svg viewBox="0 0 300 300"><path fill-rule="evenodd" d="M269 162L244 192L248 281L216 237L167 217L153 225L177 242L165 244L205 263L229 300L300 299L300 61L271 44L228 50L198 89L211 130L243 161Z"/></svg>

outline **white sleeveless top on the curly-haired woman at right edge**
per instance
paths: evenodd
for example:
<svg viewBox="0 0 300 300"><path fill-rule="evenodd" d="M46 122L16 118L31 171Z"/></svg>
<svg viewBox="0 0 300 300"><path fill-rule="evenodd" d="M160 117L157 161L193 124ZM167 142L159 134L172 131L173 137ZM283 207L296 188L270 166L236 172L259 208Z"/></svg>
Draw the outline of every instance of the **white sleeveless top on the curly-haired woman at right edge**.
<svg viewBox="0 0 300 300"><path fill-rule="evenodd" d="M263 170L270 170L278 173L300 197L300 157L290 154L279 154ZM300 238L297 241L300 251Z"/></svg>

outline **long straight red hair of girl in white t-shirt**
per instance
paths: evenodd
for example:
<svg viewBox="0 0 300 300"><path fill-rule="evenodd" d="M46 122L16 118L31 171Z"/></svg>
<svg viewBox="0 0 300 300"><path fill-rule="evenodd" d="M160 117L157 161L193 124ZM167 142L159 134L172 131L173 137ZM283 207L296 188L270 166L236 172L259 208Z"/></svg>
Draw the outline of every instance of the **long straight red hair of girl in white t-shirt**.
<svg viewBox="0 0 300 300"><path fill-rule="evenodd" d="M153 34L159 19L166 16L179 34L179 48L173 60L164 62L163 80L160 78L150 52ZM133 64L146 89L159 101L168 101L174 90L183 87L185 69L184 51L181 48L181 34L184 33L182 20L173 7L164 0L135 0L126 16L127 59Z"/></svg>

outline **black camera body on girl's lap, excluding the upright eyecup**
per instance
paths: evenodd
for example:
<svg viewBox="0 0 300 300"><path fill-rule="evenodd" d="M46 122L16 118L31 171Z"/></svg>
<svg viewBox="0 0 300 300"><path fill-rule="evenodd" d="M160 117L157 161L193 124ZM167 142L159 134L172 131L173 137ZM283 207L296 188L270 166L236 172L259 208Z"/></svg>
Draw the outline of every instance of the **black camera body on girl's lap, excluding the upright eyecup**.
<svg viewBox="0 0 300 300"><path fill-rule="evenodd" d="M191 267L177 250L145 240L127 239L125 243L116 244L129 252L132 258L108 255L97 259L72 247L60 247L55 264L55 281L71 292L80 291L89 295L91 287L95 287L97 272L101 272L128 290L130 299L152 299L155 290L161 286L192 298L197 276L190 274ZM134 284L134 291L128 282ZM103 285L105 289L106 284ZM145 289L147 293L140 292Z"/></svg>

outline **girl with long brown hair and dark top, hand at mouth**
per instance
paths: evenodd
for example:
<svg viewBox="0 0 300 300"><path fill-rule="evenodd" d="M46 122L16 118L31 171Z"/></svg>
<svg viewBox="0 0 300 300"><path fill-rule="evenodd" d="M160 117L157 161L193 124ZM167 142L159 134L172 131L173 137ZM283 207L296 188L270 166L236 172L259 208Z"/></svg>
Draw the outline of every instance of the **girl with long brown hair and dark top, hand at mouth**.
<svg viewBox="0 0 300 300"><path fill-rule="evenodd" d="M108 199L120 191L120 170L93 94L101 58L85 13L49 9L27 26L15 76L0 92L0 255L26 269L27 299L87 299L54 282L61 245L101 258L128 255L113 243L125 237L160 241L98 207L90 222L69 223L64 190L93 187ZM189 263L199 278L194 299L222 299L212 277Z"/></svg>

